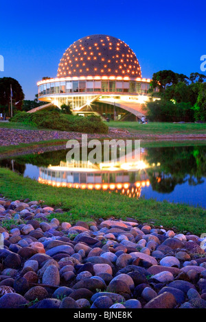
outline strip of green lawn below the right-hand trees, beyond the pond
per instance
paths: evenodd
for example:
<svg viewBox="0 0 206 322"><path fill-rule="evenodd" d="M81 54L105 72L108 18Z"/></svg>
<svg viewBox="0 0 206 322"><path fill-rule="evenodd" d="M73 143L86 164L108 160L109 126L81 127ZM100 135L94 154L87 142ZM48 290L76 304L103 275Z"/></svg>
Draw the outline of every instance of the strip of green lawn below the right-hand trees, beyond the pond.
<svg viewBox="0 0 206 322"><path fill-rule="evenodd" d="M138 122L110 121L108 127L119 127L137 134L206 134L206 124L173 124L149 122L139 124Z"/></svg>

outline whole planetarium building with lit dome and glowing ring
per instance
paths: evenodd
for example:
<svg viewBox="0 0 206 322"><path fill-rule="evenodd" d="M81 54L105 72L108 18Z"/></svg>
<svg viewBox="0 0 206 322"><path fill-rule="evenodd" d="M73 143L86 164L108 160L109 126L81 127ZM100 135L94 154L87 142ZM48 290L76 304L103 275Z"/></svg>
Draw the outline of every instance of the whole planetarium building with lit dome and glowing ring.
<svg viewBox="0 0 206 322"><path fill-rule="evenodd" d="M48 102L45 108L67 104L73 114L129 120L144 115L149 87L150 79L141 77L137 57L124 41L92 35L69 46L56 78L38 82L38 99Z"/></svg>

